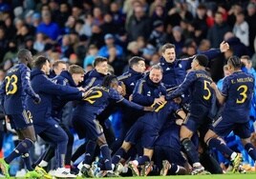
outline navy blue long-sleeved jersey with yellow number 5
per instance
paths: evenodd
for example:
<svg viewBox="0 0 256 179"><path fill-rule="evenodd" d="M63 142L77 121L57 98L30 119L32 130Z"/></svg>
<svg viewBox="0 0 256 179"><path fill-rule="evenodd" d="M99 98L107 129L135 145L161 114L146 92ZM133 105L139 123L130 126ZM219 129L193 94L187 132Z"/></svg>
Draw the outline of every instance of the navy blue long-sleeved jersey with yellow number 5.
<svg viewBox="0 0 256 179"><path fill-rule="evenodd" d="M193 70L186 75L178 89L174 90L167 98L173 99L189 90L191 108L198 105L210 107L213 96L211 83L212 79L205 70Z"/></svg>

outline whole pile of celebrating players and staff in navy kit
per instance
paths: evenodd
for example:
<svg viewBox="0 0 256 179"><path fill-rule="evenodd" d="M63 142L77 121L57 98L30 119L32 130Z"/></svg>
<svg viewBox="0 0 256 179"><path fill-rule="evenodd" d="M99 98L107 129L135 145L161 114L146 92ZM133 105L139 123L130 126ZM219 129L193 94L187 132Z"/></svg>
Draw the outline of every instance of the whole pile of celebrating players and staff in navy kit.
<svg viewBox="0 0 256 179"><path fill-rule="evenodd" d="M11 154L0 159L3 174L10 177L11 161L22 156L26 177L52 178L45 168L55 156L53 175L75 177L70 167L83 153L77 169L86 177L223 173L209 149L223 152L234 172L245 172L242 155L229 149L222 137L234 131L256 160L249 130L254 77L241 70L236 56L227 61L231 74L224 78L222 90L207 70L209 60L228 49L222 43L220 49L177 59L175 46L165 44L159 65L144 72L144 59L134 56L129 70L118 77L109 74L104 57L96 57L95 69L87 74L57 61L52 79L47 57L32 61L29 50L19 50L19 63L8 71L0 91L6 120L20 139ZM73 155L74 136L62 119L70 101L75 101L70 108L73 127L86 139ZM117 139L108 119L115 111L122 114ZM49 149L32 163L29 150L36 135ZM94 162L96 156L100 159Z"/></svg>

